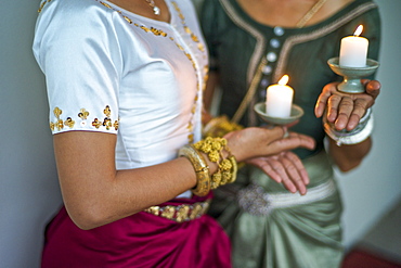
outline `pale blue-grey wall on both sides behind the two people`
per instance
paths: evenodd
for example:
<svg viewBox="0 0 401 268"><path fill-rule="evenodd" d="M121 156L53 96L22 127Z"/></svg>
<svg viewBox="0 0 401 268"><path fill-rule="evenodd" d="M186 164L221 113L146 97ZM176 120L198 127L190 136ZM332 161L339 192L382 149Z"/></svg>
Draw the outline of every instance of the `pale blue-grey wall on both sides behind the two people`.
<svg viewBox="0 0 401 268"><path fill-rule="evenodd" d="M31 54L39 0L0 10L0 267L39 267L46 222L61 204L43 76ZM374 148L361 168L339 175L345 242L354 243L401 196L400 0L379 0L383 91ZM392 30L392 33L390 33Z"/></svg>

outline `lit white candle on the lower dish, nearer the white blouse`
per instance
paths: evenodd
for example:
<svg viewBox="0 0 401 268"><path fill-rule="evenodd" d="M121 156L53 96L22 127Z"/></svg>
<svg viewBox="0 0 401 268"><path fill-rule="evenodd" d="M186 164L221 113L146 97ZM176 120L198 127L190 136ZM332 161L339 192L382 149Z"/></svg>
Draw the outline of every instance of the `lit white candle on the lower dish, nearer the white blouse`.
<svg viewBox="0 0 401 268"><path fill-rule="evenodd" d="M288 76L283 76L279 84L267 89L266 113L271 117L289 117L294 90L287 86Z"/></svg>

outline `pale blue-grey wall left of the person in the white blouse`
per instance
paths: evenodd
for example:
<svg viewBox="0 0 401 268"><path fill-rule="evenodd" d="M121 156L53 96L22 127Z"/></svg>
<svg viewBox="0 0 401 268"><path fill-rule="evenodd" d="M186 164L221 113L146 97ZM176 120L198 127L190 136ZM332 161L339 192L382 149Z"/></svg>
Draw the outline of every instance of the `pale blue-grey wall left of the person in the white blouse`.
<svg viewBox="0 0 401 268"><path fill-rule="evenodd" d="M39 267L44 224L61 204L44 79L31 53L38 0L1 1L0 267Z"/></svg>

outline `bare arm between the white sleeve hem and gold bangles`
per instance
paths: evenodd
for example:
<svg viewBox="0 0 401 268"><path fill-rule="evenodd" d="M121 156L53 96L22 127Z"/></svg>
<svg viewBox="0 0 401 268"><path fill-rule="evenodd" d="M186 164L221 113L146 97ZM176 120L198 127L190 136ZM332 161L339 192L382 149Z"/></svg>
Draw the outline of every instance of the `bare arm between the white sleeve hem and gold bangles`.
<svg viewBox="0 0 401 268"><path fill-rule="evenodd" d="M63 200L72 219L82 229L166 202L196 184L194 168L184 157L116 171L115 142L114 135L86 131L54 137Z"/></svg>

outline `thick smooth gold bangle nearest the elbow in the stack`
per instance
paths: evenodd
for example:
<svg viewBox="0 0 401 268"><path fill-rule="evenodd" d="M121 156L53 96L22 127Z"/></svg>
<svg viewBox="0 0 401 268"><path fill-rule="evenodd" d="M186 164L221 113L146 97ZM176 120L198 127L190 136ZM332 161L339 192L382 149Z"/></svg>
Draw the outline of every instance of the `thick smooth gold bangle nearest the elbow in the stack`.
<svg viewBox="0 0 401 268"><path fill-rule="evenodd" d="M192 163L196 173L196 187L191 191L197 196L205 196L210 191L209 166L202 154L190 144L180 149L179 156L185 156Z"/></svg>

